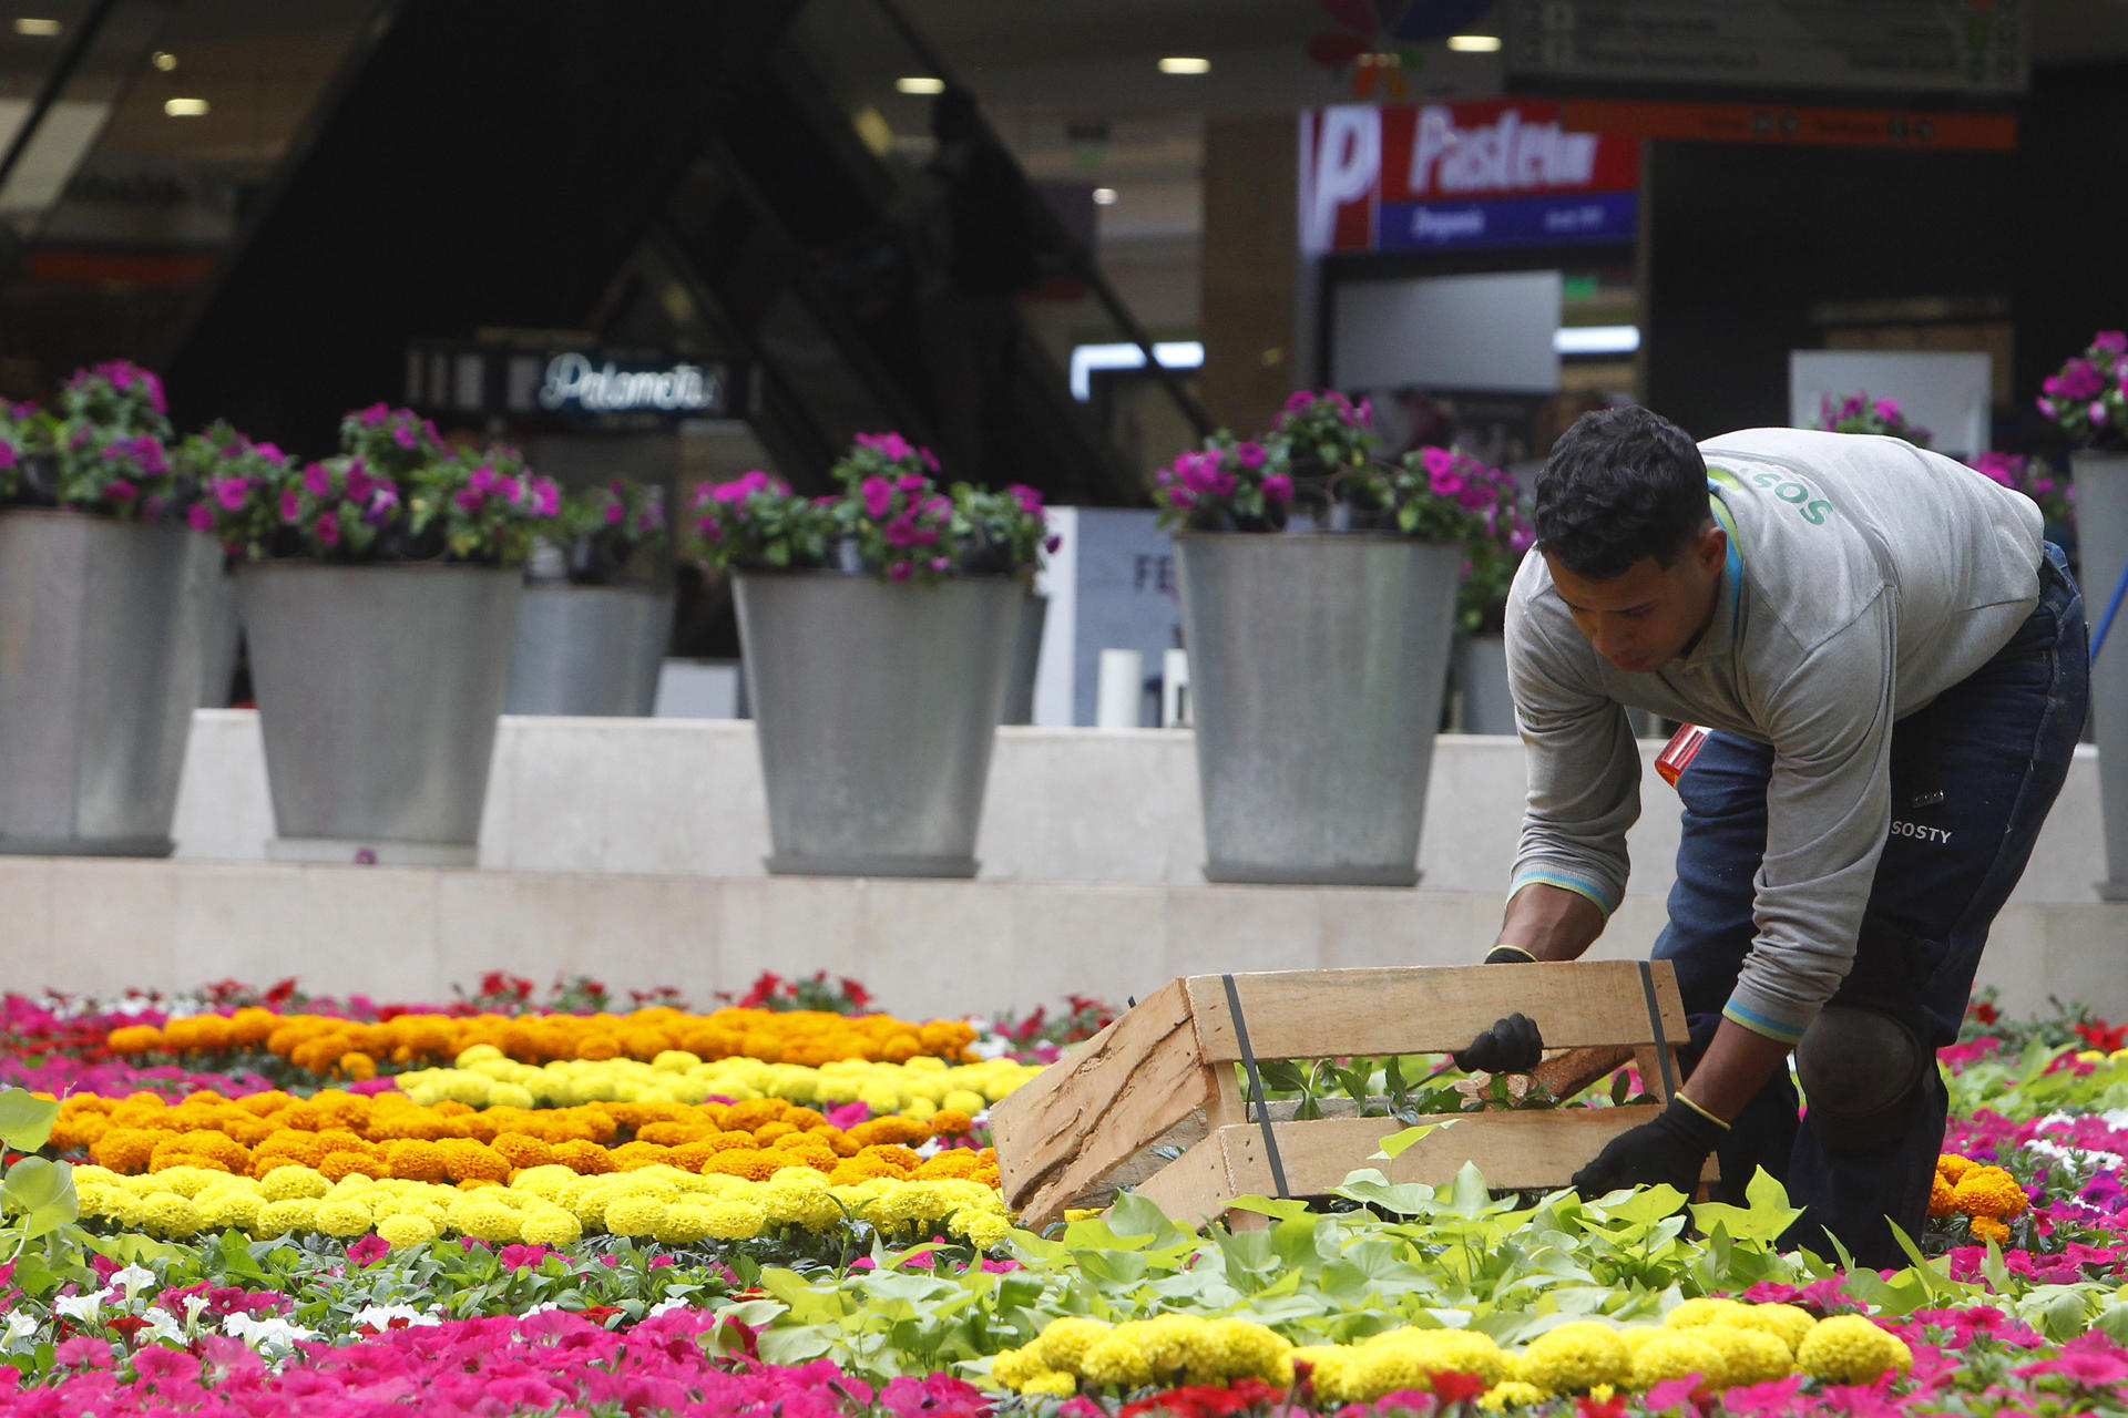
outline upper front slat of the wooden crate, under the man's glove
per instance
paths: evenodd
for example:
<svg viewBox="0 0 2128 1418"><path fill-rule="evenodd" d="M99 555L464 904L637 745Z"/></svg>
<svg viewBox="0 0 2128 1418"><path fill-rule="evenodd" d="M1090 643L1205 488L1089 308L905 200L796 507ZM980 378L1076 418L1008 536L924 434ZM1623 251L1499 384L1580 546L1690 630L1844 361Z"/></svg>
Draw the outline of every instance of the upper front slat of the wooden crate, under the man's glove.
<svg viewBox="0 0 2128 1418"><path fill-rule="evenodd" d="M1221 976L1183 986L1204 1061L1241 1059ZM1639 961L1238 974L1234 993L1258 1059L1445 1054L1517 1010L1547 1048L1658 1042ZM1681 1044L1685 1008L1670 972L1656 972L1656 1003L1666 1040Z"/></svg>

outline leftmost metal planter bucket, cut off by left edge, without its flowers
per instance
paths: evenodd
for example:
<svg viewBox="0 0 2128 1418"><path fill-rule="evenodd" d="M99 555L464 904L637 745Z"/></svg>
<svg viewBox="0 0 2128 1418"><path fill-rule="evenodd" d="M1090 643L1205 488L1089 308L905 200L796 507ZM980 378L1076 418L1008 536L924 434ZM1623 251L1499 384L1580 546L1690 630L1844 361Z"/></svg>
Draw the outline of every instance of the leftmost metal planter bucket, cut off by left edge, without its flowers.
<svg viewBox="0 0 2128 1418"><path fill-rule="evenodd" d="M0 514L0 850L168 857L221 546Z"/></svg>

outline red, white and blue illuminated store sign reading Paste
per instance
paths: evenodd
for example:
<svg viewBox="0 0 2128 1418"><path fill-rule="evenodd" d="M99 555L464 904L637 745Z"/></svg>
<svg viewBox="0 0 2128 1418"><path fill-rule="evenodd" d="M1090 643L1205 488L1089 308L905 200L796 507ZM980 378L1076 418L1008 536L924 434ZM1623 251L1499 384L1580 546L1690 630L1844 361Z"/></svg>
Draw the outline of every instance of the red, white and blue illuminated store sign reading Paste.
<svg viewBox="0 0 2128 1418"><path fill-rule="evenodd" d="M1630 242L1641 145L1543 100L1302 113L1300 240L1330 251Z"/></svg>

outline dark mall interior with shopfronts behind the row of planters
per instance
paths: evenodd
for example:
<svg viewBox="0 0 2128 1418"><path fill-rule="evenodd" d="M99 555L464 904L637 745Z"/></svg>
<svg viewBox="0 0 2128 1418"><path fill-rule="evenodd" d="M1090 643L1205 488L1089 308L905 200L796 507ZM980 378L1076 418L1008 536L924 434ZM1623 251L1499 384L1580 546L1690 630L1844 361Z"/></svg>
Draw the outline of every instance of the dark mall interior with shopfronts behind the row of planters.
<svg viewBox="0 0 2128 1418"><path fill-rule="evenodd" d="M1785 423L1798 349L1983 351L1992 442L2028 449L2041 376L2128 308L2119 0L1768 0L1719 21L1662 0L0 15L0 393L123 355L166 372L181 427L221 415L304 451L345 408L411 400L568 480L683 493L751 466L817 485L849 434L900 427L979 476L1115 508L1145 506L1200 432L1260 429L1287 391L1362 370L1392 440L1528 466L1607 400L1700 436ZM1043 198L998 336L1009 378L972 412L934 359L968 313L941 313L926 259L945 85ZM1594 121L1624 176L1566 238L1473 236L1436 206L1415 240L1392 136L1345 204L1377 225L1321 242L1324 162L1353 157L1328 153L1324 115L1347 104L1449 140L1502 115ZM1470 181L1456 204L1496 227L1530 191L1575 196ZM1468 351L1530 342L1483 304L1347 349L1375 291L1549 272L1558 330L1513 387L1458 378ZM598 425L513 406L509 361L562 349L692 361L715 398ZM730 653L717 589L681 576L675 651Z"/></svg>

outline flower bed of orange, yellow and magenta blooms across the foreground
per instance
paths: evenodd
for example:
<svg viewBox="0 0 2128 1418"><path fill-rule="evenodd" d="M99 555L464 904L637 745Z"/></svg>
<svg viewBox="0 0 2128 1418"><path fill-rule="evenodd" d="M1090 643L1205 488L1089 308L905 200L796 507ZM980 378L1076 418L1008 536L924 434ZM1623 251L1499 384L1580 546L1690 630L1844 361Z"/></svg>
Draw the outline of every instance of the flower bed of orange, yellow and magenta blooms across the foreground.
<svg viewBox="0 0 2128 1418"><path fill-rule="evenodd" d="M1779 1252L1764 1178L1685 1205L1362 1171L1258 1229L1124 1197L1032 1235L983 1110L1068 1033L566 1003L0 1001L0 1069L68 1095L0 1103L0 1412L2128 1412L2128 1050L2094 1020L1945 1052L1934 1220L1879 1273ZM936 1052L887 1063L909 1040ZM1287 1082L1470 1101L1430 1061L1343 1067Z"/></svg>

